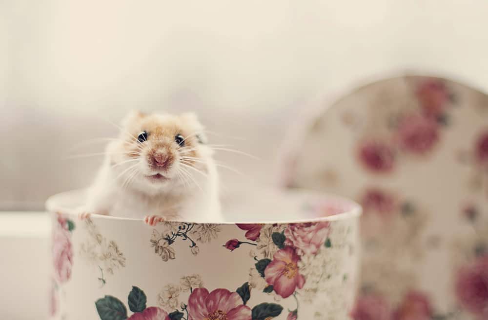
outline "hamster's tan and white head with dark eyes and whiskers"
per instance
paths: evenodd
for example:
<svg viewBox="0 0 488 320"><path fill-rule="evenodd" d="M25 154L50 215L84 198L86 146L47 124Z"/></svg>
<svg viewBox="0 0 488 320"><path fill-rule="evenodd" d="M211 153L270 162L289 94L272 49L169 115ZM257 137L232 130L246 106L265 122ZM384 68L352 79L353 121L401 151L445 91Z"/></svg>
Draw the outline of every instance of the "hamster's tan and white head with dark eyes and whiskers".
<svg viewBox="0 0 488 320"><path fill-rule="evenodd" d="M212 150L194 113L129 113L120 139L108 152L124 187L167 191L198 187L208 174ZM113 152L111 152L111 150Z"/></svg>

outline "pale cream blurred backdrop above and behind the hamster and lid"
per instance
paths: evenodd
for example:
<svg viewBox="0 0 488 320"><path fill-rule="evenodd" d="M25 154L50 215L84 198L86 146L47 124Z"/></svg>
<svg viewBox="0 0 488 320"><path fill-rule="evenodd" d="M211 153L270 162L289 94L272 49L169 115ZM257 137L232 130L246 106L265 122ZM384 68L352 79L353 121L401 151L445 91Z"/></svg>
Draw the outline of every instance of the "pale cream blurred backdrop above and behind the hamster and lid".
<svg viewBox="0 0 488 320"><path fill-rule="evenodd" d="M280 141L317 94L421 70L488 89L481 0L0 1L0 208L86 186L129 109L195 110L219 153L272 182ZM237 137L237 138L236 138ZM242 139L240 139L242 138Z"/></svg>

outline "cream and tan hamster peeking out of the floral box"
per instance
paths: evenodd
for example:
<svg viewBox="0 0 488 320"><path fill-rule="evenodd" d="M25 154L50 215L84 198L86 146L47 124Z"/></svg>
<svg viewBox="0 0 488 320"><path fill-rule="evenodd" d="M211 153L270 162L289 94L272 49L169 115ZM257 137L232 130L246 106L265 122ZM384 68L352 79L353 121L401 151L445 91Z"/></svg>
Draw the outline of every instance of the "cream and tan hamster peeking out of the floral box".
<svg viewBox="0 0 488 320"><path fill-rule="evenodd" d="M196 114L126 115L80 210L81 218L144 218L151 226L222 220L213 150Z"/></svg>

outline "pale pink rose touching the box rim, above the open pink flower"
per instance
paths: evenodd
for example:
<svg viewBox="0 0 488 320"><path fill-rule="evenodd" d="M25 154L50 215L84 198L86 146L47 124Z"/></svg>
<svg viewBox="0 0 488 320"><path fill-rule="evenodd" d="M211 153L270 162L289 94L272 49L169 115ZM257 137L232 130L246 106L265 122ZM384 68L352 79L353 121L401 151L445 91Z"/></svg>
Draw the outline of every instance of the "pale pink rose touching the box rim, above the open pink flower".
<svg viewBox="0 0 488 320"><path fill-rule="evenodd" d="M290 224L285 229L285 245L292 246L303 255L316 254L329 234L328 222Z"/></svg>

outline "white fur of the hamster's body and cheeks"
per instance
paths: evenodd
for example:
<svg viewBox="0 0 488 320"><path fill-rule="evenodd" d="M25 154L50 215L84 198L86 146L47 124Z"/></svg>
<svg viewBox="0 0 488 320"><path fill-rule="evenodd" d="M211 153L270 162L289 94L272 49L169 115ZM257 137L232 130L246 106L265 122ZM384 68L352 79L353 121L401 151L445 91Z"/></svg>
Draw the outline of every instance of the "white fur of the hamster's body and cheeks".
<svg viewBox="0 0 488 320"><path fill-rule="evenodd" d="M118 165L122 161L130 159L121 152L114 151L120 149L120 143L114 141L107 146L103 165L95 182L88 189L86 205L81 208L82 212L127 218L157 215L169 220L189 222L220 222L222 220L219 179L211 148L198 144L194 148L198 148L198 158L202 163L195 163L196 169L183 166L183 169L191 175L195 182L191 179L182 179L182 176L178 175L177 171L182 165L179 158L181 151L177 150L176 144L173 152L177 159L171 169L164 173L169 179L152 181L147 176L158 173L158 171L154 171L148 166L146 160L148 150L141 149L141 156L137 157L137 161ZM130 166L135 166L138 173L124 185L133 172L126 170ZM197 170L204 173L197 172Z"/></svg>

